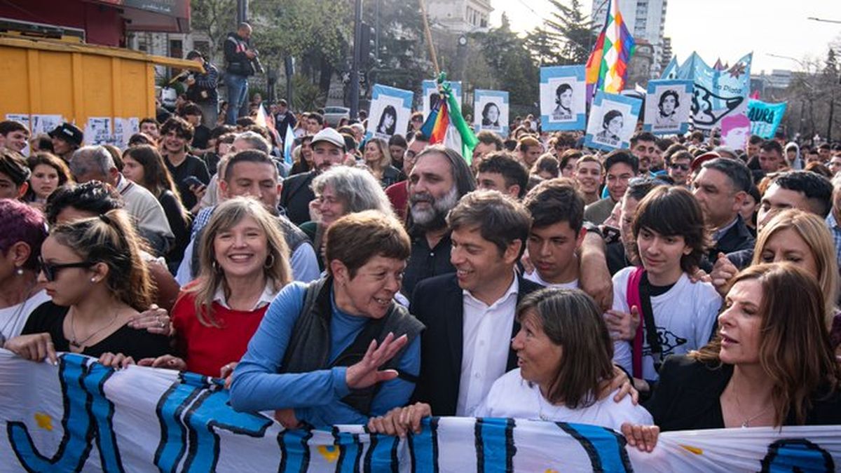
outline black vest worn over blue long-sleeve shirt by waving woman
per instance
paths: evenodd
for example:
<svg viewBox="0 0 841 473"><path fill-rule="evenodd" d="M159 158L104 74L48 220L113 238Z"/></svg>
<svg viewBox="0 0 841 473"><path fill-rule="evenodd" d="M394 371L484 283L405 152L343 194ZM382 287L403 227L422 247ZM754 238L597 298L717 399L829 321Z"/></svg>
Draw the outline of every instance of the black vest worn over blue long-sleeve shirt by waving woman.
<svg viewBox="0 0 841 473"><path fill-rule="evenodd" d="M309 284L304 295L304 307L295 322L292 336L283 355L280 373L306 373L319 369L330 369L335 366L351 366L358 363L368 351L371 340L382 343L389 332L395 337L406 335L409 342L405 344L394 358L384 364L381 369L397 369L400 358L412 341L421 334L423 324L409 314L404 306L395 304L392 301L389 311L381 319L368 319L365 327L359 332L353 343L341 352L339 356L330 362L331 332L330 322L332 305L331 289L333 279L327 277ZM402 373L398 370L401 378L415 381L414 376ZM377 395L382 384L378 383L368 388L351 390L350 394L341 399L342 402L353 407L357 412L369 416L371 402Z"/></svg>

